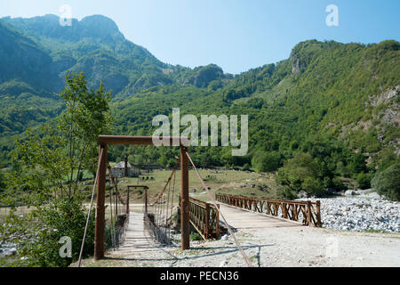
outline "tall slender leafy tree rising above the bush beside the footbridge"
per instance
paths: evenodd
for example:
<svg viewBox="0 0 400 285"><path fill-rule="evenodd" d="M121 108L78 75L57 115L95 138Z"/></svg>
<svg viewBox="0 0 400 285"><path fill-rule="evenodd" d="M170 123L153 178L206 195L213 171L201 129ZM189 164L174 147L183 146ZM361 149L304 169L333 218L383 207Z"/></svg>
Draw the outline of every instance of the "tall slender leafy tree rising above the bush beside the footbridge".
<svg viewBox="0 0 400 285"><path fill-rule="evenodd" d="M76 191L79 175L83 168L94 171L97 159L97 137L111 123L108 103L111 91L105 92L103 83L99 88L88 90L84 72L69 73L67 86L60 93L66 109L58 118L60 135L66 138L68 156L68 196ZM76 177L74 178L74 175Z"/></svg>

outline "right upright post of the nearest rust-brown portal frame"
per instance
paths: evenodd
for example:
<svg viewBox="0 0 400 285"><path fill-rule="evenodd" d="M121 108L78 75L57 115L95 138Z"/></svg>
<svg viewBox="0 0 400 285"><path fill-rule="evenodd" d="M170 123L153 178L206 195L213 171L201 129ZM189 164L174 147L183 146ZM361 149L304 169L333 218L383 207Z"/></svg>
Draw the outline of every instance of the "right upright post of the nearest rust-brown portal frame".
<svg viewBox="0 0 400 285"><path fill-rule="evenodd" d="M180 147L180 243L181 249L185 250L190 248L189 232L189 203L188 203L188 157L186 152L187 147Z"/></svg>

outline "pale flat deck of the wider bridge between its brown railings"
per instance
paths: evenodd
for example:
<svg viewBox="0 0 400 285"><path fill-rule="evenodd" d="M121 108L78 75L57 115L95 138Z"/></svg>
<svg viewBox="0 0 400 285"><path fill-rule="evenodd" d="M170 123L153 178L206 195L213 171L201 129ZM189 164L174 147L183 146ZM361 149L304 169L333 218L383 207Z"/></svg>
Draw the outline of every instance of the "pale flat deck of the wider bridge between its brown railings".
<svg viewBox="0 0 400 285"><path fill-rule="evenodd" d="M227 219L228 224L236 230L301 226L301 224L294 223L290 220L247 211L220 202L217 204L220 204L220 211ZM220 223L223 223L221 217Z"/></svg>

